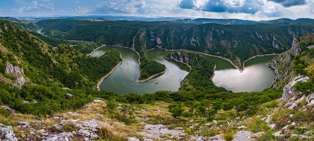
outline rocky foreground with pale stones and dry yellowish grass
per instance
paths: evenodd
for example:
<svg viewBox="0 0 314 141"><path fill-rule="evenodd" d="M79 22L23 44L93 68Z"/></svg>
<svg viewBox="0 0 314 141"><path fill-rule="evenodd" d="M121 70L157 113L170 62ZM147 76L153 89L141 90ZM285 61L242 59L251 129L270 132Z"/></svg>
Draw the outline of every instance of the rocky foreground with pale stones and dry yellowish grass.
<svg viewBox="0 0 314 141"><path fill-rule="evenodd" d="M75 112L56 113L54 117L46 115L39 120L25 118L26 120L17 121L14 126L0 123L0 138L1 140L97 140L106 137L110 137L112 140L225 140L228 138L223 129L232 127L236 129L236 132L231 134L230 140L257 140L269 133L263 129L255 132L247 129L250 122L257 118L273 130L272 136L298 137L307 140L313 138L311 132L314 132L312 130L313 121L306 122L307 118L312 119L312 117L306 117L312 114L306 113L312 112L314 93L304 95L293 88L297 81L306 81L307 79L304 76L297 76L289 82L283 88L282 97L273 101L279 106L266 109L269 112L227 118L226 124L217 120L200 122L200 120L189 119L184 125L185 127L178 125L169 128L164 124L152 123L151 120L154 116L148 116L152 113L156 114L155 116L166 116L162 114L168 112L165 107L161 107L161 109L137 107L138 110L135 112L137 117L134 120L138 120L138 125L129 126L106 116L107 114L102 111L106 101L95 99ZM23 116L15 113L8 106L1 107L6 109L10 116ZM189 130L196 131L187 133ZM213 136L199 135L200 132L210 132L211 130L219 132Z"/></svg>

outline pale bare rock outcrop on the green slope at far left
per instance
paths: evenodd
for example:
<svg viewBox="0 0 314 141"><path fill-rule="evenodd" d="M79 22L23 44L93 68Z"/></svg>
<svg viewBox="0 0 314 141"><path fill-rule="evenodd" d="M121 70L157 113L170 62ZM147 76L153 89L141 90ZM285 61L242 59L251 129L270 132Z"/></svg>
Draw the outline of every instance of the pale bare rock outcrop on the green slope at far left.
<svg viewBox="0 0 314 141"><path fill-rule="evenodd" d="M24 74L24 69L20 69L18 66L14 66L10 62L6 62L6 72L11 76L16 77L14 85L22 88L22 86L26 82L25 78L22 75L22 73Z"/></svg>

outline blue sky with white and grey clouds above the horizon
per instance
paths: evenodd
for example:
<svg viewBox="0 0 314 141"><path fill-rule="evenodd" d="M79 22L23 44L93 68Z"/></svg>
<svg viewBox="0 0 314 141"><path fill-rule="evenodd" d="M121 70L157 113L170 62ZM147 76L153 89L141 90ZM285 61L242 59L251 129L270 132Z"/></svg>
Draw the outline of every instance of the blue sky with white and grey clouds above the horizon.
<svg viewBox="0 0 314 141"><path fill-rule="evenodd" d="M0 16L314 18L314 0L1 0Z"/></svg>

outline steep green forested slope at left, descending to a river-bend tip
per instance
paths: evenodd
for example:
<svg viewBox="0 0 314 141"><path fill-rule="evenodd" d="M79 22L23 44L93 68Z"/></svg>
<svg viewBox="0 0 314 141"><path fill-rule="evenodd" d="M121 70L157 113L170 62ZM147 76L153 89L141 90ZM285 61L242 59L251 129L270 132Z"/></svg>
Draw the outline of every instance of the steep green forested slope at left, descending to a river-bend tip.
<svg viewBox="0 0 314 141"><path fill-rule="evenodd" d="M70 45L53 47L4 21L0 21L0 37L0 43L8 50L8 55L2 55L2 66L6 61L19 65L31 82L43 85L57 81L70 88L93 88L121 60L117 50L90 57Z"/></svg>

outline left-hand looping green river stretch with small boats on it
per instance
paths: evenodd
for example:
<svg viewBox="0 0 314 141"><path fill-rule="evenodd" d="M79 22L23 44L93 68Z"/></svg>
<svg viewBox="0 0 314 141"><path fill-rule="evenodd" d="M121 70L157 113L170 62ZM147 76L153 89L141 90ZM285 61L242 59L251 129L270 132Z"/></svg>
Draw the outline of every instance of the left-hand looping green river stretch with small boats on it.
<svg viewBox="0 0 314 141"><path fill-rule="evenodd" d="M166 65L167 71L146 82L135 82L139 77L138 56L128 48L105 46L97 49L91 56L101 56L106 51L116 48L122 54L123 62L116 68L111 75L102 81L100 89L107 89L117 93L153 93L158 90L177 91L180 88L180 82L189 73L190 68L183 63L167 60L163 56L173 52L162 49L148 51L148 54L154 60ZM159 83L155 84L155 81Z"/></svg>

